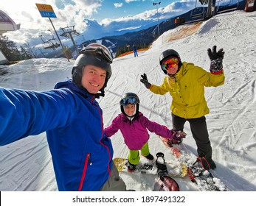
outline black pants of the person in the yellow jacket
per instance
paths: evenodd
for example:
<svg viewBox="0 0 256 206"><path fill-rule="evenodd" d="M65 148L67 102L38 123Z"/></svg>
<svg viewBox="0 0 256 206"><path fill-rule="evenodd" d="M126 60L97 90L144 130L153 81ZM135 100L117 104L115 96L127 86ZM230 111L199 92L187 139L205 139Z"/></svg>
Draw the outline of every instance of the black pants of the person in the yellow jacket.
<svg viewBox="0 0 256 206"><path fill-rule="evenodd" d="M205 116L200 118L181 118L172 113L172 118L174 130L183 130L185 122L188 121L190 123L190 129L193 138L196 141L198 155L206 156L207 159L211 159L212 146L209 139Z"/></svg>

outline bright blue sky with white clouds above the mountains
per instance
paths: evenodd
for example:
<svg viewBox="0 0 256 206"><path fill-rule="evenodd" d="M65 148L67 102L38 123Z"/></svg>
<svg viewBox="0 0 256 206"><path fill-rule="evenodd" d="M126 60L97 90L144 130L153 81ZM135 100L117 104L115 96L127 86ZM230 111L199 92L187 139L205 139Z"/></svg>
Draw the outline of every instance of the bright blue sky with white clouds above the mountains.
<svg viewBox="0 0 256 206"><path fill-rule="evenodd" d="M1 0L4 1L4 0ZM52 25L48 18L42 18L35 6L49 4L52 6L57 18L52 18L56 29L75 25L77 32L83 32L87 26L85 19L96 20L100 25L111 24L112 21L125 22L135 19L153 19L157 21L156 5L160 13L182 13L193 7L196 0L8 0L1 4L1 10L10 15L15 24L21 24L21 29L8 32L7 35L16 43L26 43L28 39L46 35ZM48 32L49 33L49 32Z"/></svg>

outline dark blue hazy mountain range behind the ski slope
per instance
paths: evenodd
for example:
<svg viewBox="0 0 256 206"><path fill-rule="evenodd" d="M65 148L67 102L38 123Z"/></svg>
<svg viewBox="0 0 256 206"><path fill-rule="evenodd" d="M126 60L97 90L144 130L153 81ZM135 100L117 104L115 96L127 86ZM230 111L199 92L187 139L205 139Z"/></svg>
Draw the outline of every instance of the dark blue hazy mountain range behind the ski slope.
<svg viewBox="0 0 256 206"><path fill-rule="evenodd" d="M227 4L218 7L218 10L215 10L215 14L229 12L232 10L244 10L246 5L246 0L240 1L239 4ZM207 15L207 7L196 7L193 10L189 10L187 13L177 15L173 18L162 18L162 21L159 23L159 33L158 33L158 22L152 20L142 20L140 25L135 24L133 21L129 21L125 24L126 29L118 30L120 25L117 22L111 24L111 26L100 26L97 21L91 21L86 19L89 26L86 29L86 32L81 33L77 38L75 38L76 46L78 51L83 48L83 46L88 45L92 42L102 43L107 46L108 49L114 54L117 52L118 48L123 48L127 45L131 47L135 44L139 47L149 46L153 40L158 38L158 35L166 32L169 29L173 29L180 24L191 24L193 22L204 21ZM178 20L178 21L177 21ZM122 23L119 23L122 24ZM130 31L130 32L128 32ZM100 34L105 34L104 37L100 37ZM90 40L85 40L84 37L94 37ZM76 57L77 53L75 51L75 46L69 46L72 51L73 57ZM36 54L37 57L41 57L42 54ZM49 50L44 51L44 57L63 57L60 54L60 50Z"/></svg>

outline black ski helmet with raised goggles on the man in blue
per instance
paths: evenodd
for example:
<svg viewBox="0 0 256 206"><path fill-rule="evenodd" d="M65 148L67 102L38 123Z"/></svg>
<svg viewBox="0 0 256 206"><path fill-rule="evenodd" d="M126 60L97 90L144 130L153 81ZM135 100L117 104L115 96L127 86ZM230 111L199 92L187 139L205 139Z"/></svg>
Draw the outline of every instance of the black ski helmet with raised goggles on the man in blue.
<svg viewBox="0 0 256 206"><path fill-rule="evenodd" d="M108 79L111 77L111 63L113 58L107 47L99 43L90 43L80 51L80 55L75 60L72 68L72 81L82 87L81 80L85 65L94 65L106 71L105 84L100 89L99 95L104 96L104 88L107 86Z"/></svg>

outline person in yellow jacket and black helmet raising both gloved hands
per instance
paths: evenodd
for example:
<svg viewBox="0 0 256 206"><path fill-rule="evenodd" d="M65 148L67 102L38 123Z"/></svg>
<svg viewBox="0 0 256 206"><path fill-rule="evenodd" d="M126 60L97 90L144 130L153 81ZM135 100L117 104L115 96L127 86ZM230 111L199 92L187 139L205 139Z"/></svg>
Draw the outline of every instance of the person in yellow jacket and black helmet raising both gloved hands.
<svg viewBox="0 0 256 206"><path fill-rule="evenodd" d="M196 141L198 157L206 158L210 168L216 168L212 160L212 147L205 115L210 110L204 97L204 87L217 87L224 84L222 60L223 49L216 51L216 46L208 49L211 60L210 72L194 65L181 62L179 53L167 49L160 55L162 71L167 74L162 85L151 85L146 74L140 80L146 88L156 94L164 95L169 92L173 97L170 107L172 111L173 129L183 130L186 121L190 123L193 138ZM208 165L208 164L207 164Z"/></svg>

